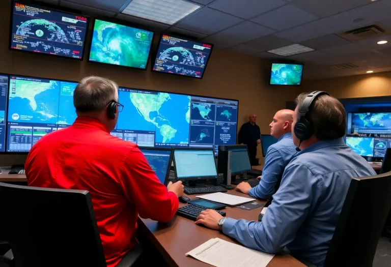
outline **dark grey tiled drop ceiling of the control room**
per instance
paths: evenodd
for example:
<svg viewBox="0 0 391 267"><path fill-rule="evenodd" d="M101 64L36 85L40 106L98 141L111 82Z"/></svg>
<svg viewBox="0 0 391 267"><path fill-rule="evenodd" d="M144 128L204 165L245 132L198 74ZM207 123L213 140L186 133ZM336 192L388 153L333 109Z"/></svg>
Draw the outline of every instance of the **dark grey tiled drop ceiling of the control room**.
<svg viewBox="0 0 391 267"><path fill-rule="evenodd" d="M306 79L391 71L391 35L359 42L336 35L375 23L391 29L391 0L189 0L202 7L174 25L121 14L131 0L40 1L194 36L266 60L298 61L305 64ZM378 45L380 39L389 43ZM288 57L266 52L295 43L315 51ZM346 63L357 67L332 67Z"/></svg>

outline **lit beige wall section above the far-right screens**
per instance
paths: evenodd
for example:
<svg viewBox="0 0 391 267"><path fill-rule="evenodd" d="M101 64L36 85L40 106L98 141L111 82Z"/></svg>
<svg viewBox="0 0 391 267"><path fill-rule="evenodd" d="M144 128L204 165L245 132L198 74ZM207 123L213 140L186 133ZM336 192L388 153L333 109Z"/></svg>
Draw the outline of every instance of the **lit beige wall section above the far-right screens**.
<svg viewBox="0 0 391 267"><path fill-rule="evenodd" d="M391 72L304 81L301 92L327 91L336 98L391 96Z"/></svg>

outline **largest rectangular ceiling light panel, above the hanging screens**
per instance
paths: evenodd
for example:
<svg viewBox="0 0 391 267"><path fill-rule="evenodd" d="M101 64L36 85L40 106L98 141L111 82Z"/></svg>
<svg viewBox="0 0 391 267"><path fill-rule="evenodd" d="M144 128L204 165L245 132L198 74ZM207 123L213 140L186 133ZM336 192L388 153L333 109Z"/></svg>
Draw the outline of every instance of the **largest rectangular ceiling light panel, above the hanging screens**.
<svg viewBox="0 0 391 267"><path fill-rule="evenodd" d="M172 25L199 8L182 0L133 0L122 13Z"/></svg>

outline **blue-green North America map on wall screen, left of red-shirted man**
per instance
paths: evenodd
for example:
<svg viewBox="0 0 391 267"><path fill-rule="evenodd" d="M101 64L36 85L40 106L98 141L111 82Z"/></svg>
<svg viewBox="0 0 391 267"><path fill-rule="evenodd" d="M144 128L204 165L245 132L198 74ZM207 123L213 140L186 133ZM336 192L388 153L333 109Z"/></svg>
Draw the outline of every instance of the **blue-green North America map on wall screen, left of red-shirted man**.
<svg viewBox="0 0 391 267"><path fill-rule="evenodd" d="M11 77L8 121L57 124L60 82Z"/></svg>

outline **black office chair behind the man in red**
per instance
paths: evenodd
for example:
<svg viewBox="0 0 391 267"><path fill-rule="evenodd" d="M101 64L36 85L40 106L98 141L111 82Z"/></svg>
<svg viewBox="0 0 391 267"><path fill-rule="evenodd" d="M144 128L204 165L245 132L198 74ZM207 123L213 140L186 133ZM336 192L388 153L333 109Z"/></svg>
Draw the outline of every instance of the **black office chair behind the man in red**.
<svg viewBox="0 0 391 267"><path fill-rule="evenodd" d="M1 225L16 267L106 267L88 191L0 183ZM142 248L132 249L117 265L130 267Z"/></svg>

